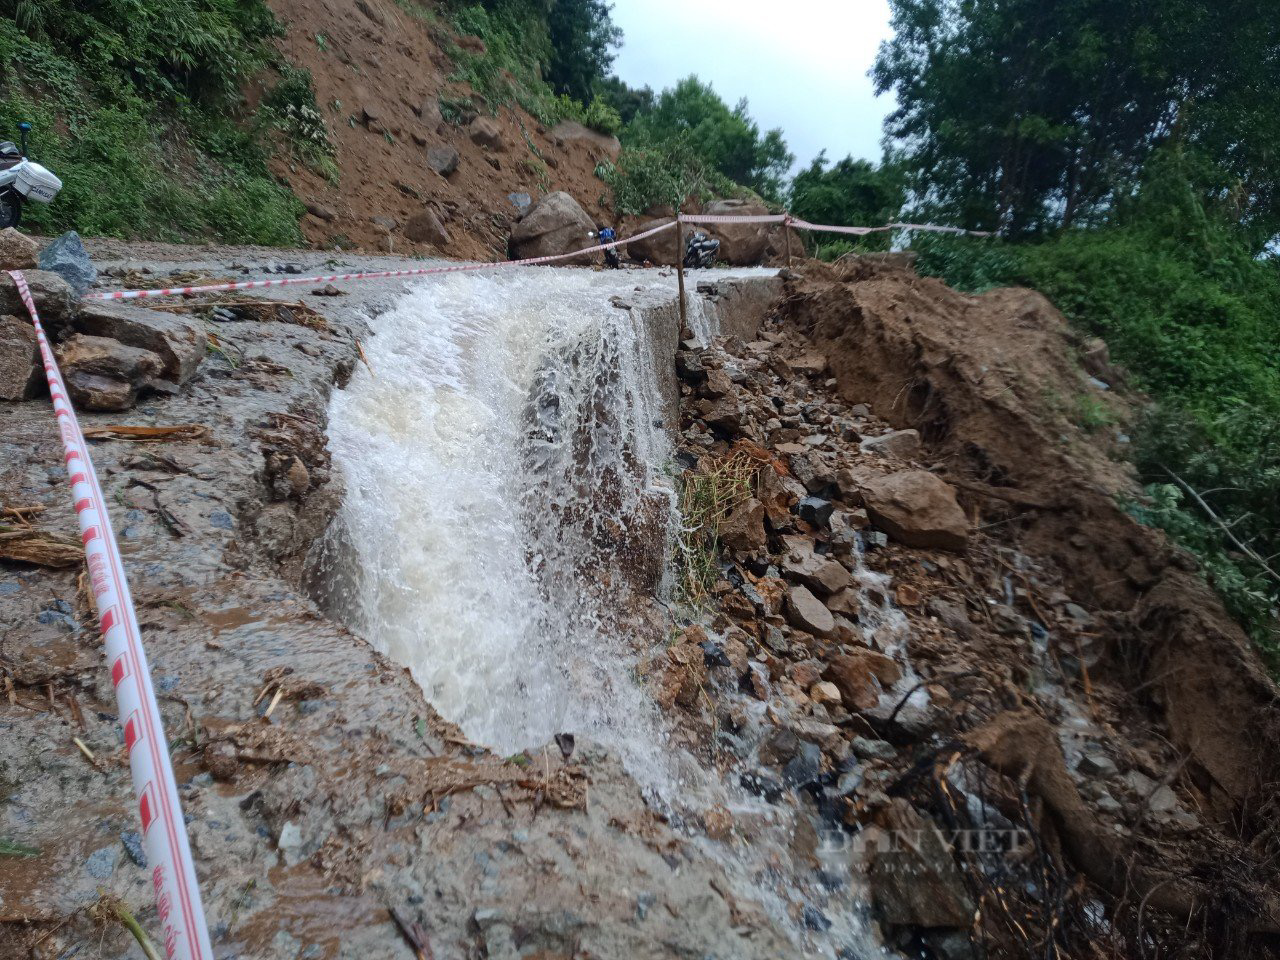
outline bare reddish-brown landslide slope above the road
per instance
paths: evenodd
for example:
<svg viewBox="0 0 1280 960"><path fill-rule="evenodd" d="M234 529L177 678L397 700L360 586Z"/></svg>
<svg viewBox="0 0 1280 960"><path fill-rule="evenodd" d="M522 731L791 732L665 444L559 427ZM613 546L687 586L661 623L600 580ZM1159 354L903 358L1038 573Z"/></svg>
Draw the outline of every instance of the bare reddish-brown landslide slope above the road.
<svg viewBox="0 0 1280 960"><path fill-rule="evenodd" d="M500 260L518 212L511 193L536 200L566 191L596 221L612 219L608 191L594 170L616 156L617 141L580 127L568 136L566 128L553 133L515 101L486 101L453 79L457 61L490 56L479 37L458 36L420 4L269 5L284 26L285 59L311 73L340 174L330 179L288 156L274 164L310 211L301 221L308 242ZM520 82L504 79L518 95ZM489 122L495 136L484 131ZM457 169L438 173L429 150L456 150ZM448 233L445 242L406 236L408 221L428 207Z"/></svg>

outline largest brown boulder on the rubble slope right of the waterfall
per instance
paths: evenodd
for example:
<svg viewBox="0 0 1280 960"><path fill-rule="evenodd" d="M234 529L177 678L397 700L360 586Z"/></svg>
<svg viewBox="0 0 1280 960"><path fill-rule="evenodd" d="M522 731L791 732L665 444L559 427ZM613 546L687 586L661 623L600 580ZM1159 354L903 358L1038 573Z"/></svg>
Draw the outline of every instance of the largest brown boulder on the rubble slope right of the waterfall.
<svg viewBox="0 0 1280 960"><path fill-rule="evenodd" d="M963 550L969 541L965 517L952 486L925 470L906 470L863 488L872 522L908 547Z"/></svg>

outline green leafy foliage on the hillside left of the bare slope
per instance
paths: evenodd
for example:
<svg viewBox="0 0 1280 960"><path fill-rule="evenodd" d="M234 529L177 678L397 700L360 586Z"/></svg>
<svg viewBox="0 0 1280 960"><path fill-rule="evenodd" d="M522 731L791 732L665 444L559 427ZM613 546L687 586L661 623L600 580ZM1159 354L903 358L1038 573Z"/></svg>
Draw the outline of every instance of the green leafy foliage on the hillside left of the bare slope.
<svg viewBox="0 0 1280 960"><path fill-rule="evenodd" d="M64 187L28 205L35 229L293 244L301 204L271 177L265 118L237 123L239 88L269 61L260 0L5 3L0 129ZM314 104L312 104L314 106Z"/></svg>

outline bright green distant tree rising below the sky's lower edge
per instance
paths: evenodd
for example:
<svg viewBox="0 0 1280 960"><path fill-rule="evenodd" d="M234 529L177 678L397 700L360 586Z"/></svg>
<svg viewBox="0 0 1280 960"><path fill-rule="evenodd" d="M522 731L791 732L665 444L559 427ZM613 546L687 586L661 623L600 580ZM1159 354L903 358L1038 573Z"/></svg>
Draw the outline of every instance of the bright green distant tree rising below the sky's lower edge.
<svg viewBox="0 0 1280 960"><path fill-rule="evenodd" d="M719 173L771 200L778 198L795 161L782 131L760 136L745 99L731 110L695 76L664 90L652 110L635 118L630 133L640 142L684 140Z"/></svg>

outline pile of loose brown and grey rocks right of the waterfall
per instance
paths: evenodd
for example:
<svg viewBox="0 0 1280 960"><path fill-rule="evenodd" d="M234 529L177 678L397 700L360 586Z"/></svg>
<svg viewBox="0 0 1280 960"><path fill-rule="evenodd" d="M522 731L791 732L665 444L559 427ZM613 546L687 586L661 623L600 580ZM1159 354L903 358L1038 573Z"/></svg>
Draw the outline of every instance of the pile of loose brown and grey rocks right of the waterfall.
<svg viewBox="0 0 1280 960"><path fill-rule="evenodd" d="M1046 803L1087 812L1100 836L1128 837L1121 820L1134 818L1196 828L1172 790L1134 769L1161 760L1117 744L1119 719L1102 722L1082 694L1100 663L1096 614L1053 570L975 530L956 489L927 468L915 430L840 396L827 357L794 328L710 346L684 335L686 483L742 476L726 463L749 463L750 479L717 494L726 506L701 544L713 559L699 567L712 571L708 596L650 664L657 699L745 790L844 837L840 855L867 877L891 943L973 956L984 884L1027 863L1018 850L1033 820L972 815L997 800L1016 809L1004 778L1012 764L956 737L997 740L1028 691L1064 731L1044 733L1065 745L1044 749L1064 791ZM1030 737L1015 740L1030 749ZM936 773L934 751L964 769ZM941 782L940 795L929 785ZM723 810L704 820L712 836L750 829ZM956 823L1006 831L1007 856L966 860L946 829ZM918 841L905 851L904 835Z"/></svg>

